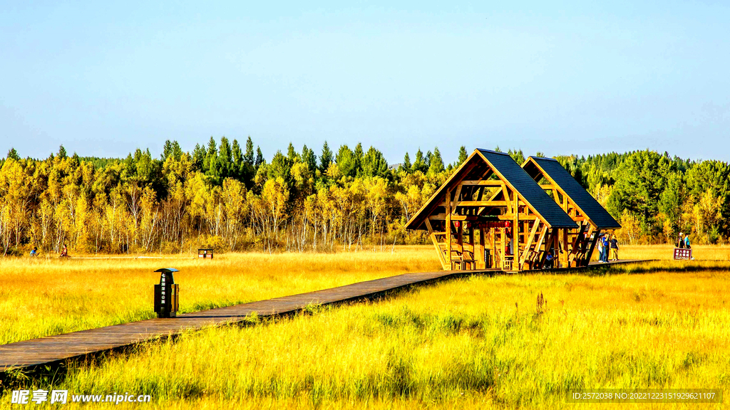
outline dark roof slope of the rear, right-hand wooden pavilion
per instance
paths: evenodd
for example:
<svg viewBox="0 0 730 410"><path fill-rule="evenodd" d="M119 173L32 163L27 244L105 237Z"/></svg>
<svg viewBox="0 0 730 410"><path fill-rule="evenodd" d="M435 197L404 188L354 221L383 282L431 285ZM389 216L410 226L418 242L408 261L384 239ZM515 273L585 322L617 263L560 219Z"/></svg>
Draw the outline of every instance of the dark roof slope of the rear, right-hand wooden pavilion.
<svg viewBox="0 0 730 410"><path fill-rule="evenodd" d="M591 196L572 175L553 158L530 157L537 165L545 171L546 177L553 179L561 190L564 190L568 197L575 203L588 219L599 229L621 228L621 225L604 209L601 204ZM528 162L529 163L529 162ZM527 164L527 163L526 163ZM535 178L538 169L526 166L527 173Z"/></svg>

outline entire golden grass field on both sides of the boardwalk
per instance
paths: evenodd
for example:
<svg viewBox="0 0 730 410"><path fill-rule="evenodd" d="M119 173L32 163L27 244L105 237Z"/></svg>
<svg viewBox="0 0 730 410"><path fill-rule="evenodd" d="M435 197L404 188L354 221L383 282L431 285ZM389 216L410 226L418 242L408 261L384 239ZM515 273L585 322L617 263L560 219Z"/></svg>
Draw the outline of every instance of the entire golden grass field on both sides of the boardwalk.
<svg viewBox="0 0 730 410"><path fill-rule="evenodd" d="M671 255L670 247L626 248L622 258ZM99 364L72 365L64 379L27 386L153 397L151 404L115 408L565 408L582 406L564 401L567 390L581 387L712 387L723 389L728 401L729 250L696 248L698 259L719 261L666 260L615 266L597 275L442 282L374 303L314 308L296 317L145 344ZM437 270L435 259L431 247L396 248L394 255L226 255L213 263L178 263L178 282L185 284L183 309L196 310ZM0 263L6 342L20 330L32 334L34 326L53 333L80 321L88 328L108 324L104 320L137 319L126 312L149 317L157 279L151 271L160 267L154 260L126 260L125 268L113 272L118 261ZM226 268L236 272L228 274ZM63 277L46 285L37 277L41 270ZM88 271L96 279L84 279ZM106 299L115 295L112 290L98 290L127 282L131 285L117 290L127 295L114 300ZM91 293L85 293L87 287ZM134 295L146 287L147 294ZM542 306L539 294L546 300ZM73 305L69 301L75 301L73 309L64 308ZM99 306L115 313L88 312ZM61 315L73 316L54 322ZM15 322L6 325L7 318ZM20 339L28 338L15 340ZM9 392L0 403L9 403Z"/></svg>

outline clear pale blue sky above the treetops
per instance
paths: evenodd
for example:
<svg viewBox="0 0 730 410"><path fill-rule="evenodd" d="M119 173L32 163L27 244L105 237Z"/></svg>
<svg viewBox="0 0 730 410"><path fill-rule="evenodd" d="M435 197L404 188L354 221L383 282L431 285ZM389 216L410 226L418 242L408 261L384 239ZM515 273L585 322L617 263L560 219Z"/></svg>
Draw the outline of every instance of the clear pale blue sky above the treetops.
<svg viewBox="0 0 730 410"><path fill-rule="evenodd" d="M353 4L342 7L342 4ZM9 1L0 150L362 142L730 160L722 1Z"/></svg>

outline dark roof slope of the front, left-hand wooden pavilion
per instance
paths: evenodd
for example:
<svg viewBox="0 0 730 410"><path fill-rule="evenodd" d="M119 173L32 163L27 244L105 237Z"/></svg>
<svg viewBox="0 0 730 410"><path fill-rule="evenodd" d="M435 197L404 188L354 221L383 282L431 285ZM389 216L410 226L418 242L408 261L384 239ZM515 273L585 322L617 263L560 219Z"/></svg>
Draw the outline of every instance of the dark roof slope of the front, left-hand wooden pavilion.
<svg viewBox="0 0 730 410"><path fill-rule="evenodd" d="M512 157L504 152L479 150L493 169L515 187L530 206L545 219L552 228L577 228L577 223L550 198L545 190L534 181Z"/></svg>

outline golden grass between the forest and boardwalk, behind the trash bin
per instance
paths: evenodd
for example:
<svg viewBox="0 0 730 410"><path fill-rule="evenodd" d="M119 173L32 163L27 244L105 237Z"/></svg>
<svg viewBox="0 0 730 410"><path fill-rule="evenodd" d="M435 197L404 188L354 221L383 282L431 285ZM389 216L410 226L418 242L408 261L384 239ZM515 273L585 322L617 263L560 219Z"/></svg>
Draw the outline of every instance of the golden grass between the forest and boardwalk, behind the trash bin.
<svg viewBox="0 0 730 410"><path fill-rule="evenodd" d="M427 247L336 254L231 253L214 259L0 258L0 344L150 319L155 269L180 269L180 312L439 271Z"/></svg>

